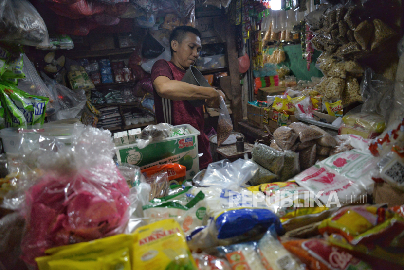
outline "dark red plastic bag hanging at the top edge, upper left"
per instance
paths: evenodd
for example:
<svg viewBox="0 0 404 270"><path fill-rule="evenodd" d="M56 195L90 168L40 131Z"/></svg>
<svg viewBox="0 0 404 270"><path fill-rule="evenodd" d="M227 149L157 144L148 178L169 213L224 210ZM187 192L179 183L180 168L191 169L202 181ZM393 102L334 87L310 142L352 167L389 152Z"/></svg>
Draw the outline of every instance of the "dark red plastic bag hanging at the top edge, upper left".
<svg viewBox="0 0 404 270"><path fill-rule="evenodd" d="M52 9L57 15L71 19L81 19L103 12L106 5L97 1L88 2L87 0L81 0L71 5L52 4L49 6L49 8Z"/></svg>

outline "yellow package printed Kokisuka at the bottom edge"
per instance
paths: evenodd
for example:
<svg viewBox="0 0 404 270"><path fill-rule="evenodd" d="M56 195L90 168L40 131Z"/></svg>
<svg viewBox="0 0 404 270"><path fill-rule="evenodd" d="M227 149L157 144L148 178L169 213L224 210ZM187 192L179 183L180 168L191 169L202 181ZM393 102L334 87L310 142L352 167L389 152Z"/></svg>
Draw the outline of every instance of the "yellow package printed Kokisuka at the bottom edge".
<svg viewBox="0 0 404 270"><path fill-rule="evenodd" d="M165 219L136 230L134 265L147 270L198 270L180 224Z"/></svg>

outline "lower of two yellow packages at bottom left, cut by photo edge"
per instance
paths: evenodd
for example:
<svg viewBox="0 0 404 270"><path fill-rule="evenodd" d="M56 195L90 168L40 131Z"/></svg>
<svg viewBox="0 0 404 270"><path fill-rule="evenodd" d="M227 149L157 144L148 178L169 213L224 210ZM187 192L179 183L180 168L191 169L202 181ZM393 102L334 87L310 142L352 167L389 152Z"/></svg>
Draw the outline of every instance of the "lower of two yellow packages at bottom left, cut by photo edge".
<svg viewBox="0 0 404 270"><path fill-rule="evenodd" d="M98 258L96 261L55 260L48 262L50 270L131 270L129 249L125 248L107 256Z"/></svg>

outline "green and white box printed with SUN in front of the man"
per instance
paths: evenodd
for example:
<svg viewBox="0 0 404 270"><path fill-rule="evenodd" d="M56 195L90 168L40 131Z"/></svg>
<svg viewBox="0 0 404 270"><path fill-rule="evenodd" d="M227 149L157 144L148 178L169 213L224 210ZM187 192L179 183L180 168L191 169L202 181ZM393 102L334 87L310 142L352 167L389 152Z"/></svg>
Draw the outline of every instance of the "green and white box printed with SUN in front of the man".
<svg viewBox="0 0 404 270"><path fill-rule="evenodd" d="M199 172L198 136L200 132L189 124L174 126L187 128L191 134L153 141L139 149L137 143L116 148L118 163L129 163L147 169L155 165L178 163L186 167L186 180Z"/></svg>

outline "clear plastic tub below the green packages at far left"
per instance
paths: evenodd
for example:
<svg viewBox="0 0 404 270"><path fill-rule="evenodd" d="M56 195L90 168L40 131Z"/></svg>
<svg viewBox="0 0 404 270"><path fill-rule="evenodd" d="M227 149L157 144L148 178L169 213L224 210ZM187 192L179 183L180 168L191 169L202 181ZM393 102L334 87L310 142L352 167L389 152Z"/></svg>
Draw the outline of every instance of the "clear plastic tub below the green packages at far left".
<svg viewBox="0 0 404 270"><path fill-rule="evenodd" d="M5 128L0 131L0 138L3 141L4 151L7 154L18 155L23 134L32 136L53 137L66 145L72 142L72 133L75 125L33 125L29 128Z"/></svg>

